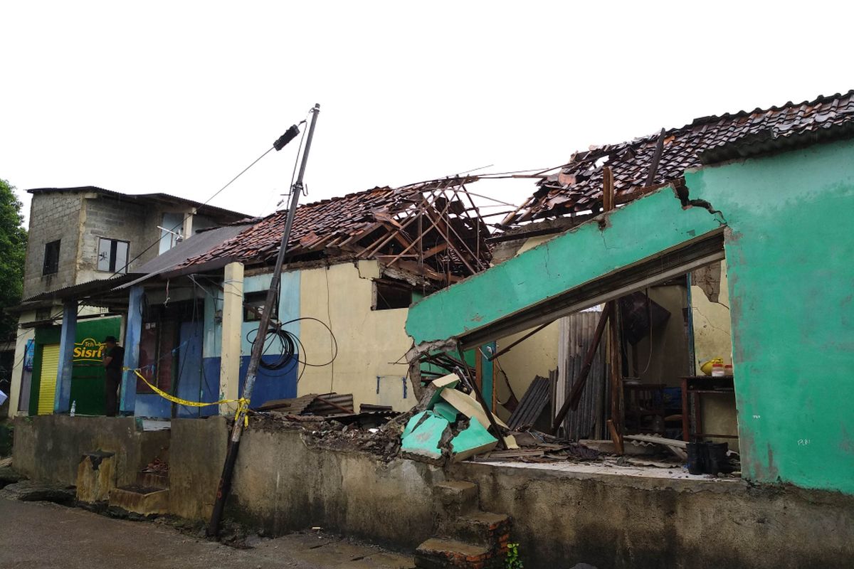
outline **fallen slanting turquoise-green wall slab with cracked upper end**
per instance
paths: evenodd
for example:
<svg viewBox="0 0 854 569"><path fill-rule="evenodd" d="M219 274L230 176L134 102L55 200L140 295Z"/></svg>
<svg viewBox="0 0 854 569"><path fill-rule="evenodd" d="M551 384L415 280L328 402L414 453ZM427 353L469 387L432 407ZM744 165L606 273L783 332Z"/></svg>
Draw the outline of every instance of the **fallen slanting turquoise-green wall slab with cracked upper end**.
<svg viewBox="0 0 854 569"><path fill-rule="evenodd" d="M409 309L407 333L416 344L459 337L722 224L702 207L683 211L669 188L621 207L607 220L604 230L596 222L582 224L431 294Z"/></svg>

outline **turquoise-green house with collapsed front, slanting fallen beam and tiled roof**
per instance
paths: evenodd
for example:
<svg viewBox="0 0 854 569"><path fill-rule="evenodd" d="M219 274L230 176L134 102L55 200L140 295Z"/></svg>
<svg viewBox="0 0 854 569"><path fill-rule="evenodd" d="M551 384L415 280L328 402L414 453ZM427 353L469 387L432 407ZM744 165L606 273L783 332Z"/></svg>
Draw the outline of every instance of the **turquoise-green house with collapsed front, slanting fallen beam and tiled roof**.
<svg viewBox="0 0 854 569"><path fill-rule="evenodd" d="M407 332L497 342L500 397L540 390L553 432L728 443L747 479L854 491L852 133L849 92L574 154L492 238L518 253Z"/></svg>

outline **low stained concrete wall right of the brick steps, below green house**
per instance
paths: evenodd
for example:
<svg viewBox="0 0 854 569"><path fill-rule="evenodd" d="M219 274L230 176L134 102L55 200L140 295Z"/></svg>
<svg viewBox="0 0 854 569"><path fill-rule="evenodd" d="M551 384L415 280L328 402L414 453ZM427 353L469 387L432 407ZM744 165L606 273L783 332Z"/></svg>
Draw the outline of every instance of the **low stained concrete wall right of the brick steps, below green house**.
<svg viewBox="0 0 854 569"><path fill-rule="evenodd" d="M850 567L854 496L742 481L463 464L526 567Z"/></svg>

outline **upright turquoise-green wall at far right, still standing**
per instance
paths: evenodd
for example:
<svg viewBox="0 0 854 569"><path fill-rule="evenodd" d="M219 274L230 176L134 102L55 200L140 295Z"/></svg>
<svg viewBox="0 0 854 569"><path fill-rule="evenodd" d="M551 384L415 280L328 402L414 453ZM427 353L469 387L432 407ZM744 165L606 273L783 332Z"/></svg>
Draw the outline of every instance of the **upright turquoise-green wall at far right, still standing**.
<svg viewBox="0 0 854 569"><path fill-rule="evenodd" d="M686 178L731 229L744 475L854 493L854 142Z"/></svg>

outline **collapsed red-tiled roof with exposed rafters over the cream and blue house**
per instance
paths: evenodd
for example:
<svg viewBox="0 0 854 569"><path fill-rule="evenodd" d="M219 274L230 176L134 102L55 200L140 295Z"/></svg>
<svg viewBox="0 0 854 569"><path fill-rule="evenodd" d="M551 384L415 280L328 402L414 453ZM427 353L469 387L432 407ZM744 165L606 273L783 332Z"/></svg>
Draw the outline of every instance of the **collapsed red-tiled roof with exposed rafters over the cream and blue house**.
<svg viewBox="0 0 854 569"><path fill-rule="evenodd" d="M286 262L376 258L437 286L488 268L488 226L465 189L477 177L374 188L299 206ZM184 266L229 259L272 264L287 210L257 220Z"/></svg>

